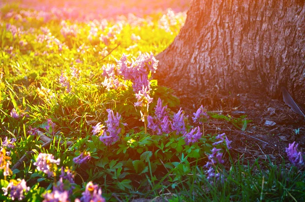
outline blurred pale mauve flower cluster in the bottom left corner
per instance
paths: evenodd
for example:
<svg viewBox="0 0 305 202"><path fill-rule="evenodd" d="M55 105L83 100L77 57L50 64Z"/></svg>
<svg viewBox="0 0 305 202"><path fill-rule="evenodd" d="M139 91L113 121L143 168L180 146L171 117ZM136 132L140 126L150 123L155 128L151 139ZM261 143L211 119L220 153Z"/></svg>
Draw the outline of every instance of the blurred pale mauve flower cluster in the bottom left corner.
<svg viewBox="0 0 305 202"><path fill-rule="evenodd" d="M26 182L24 179L20 180L10 180L10 183L8 186L2 187L2 190L4 191L3 195L7 195L9 192L9 197L12 198L12 200L22 200L24 199L24 193L27 193L29 191L29 187L26 186Z"/></svg>

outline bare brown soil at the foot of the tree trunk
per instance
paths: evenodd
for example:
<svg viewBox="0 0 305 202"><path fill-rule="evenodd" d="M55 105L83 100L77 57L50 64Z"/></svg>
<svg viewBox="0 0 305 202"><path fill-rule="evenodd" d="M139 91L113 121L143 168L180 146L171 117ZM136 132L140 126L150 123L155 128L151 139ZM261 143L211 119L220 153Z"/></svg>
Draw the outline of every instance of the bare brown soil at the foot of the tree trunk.
<svg viewBox="0 0 305 202"><path fill-rule="evenodd" d="M179 95L178 95L179 96ZM225 132L232 140L232 154L244 155L246 159L255 161L257 158L281 163L282 159L289 162L285 148L294 141L298 149L305 145L305 117L293 112L283 98L272 99L263 94L229 94L220 95L218 89L207 91L206 94L186 96L180 95L181 107L189 117L201 106L208 111L232 117L247 115L248 123L245 131L241 131L227 121L210 119L205 125L207 132ZM294 129L298 129L298 134Z"/></svg>

